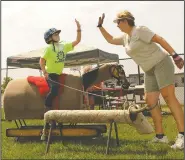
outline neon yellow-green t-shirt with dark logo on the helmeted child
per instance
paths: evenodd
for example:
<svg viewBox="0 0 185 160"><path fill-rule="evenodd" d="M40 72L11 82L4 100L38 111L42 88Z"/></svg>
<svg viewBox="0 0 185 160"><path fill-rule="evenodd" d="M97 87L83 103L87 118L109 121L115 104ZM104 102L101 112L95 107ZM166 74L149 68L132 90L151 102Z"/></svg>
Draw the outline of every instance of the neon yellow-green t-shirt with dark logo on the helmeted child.
<svg viewBox="0 0 185 160"><path fill-rule="evenodd" d="M55 52L53 44L49 44L41 56L46 60L46 71L60 75L64 68L66 54L71 50L73 50L72 43L60 42L59 45L55 45Z"/></svg>

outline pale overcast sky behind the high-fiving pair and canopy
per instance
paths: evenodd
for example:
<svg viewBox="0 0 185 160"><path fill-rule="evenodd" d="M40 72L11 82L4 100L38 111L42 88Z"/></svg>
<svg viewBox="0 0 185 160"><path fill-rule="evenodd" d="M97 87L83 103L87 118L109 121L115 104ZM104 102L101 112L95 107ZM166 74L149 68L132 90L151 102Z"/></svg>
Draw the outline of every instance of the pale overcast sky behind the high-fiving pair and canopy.
<svg viewBox="0 0 185 160"><path fill-rule="evenodd" d="M122 10L129 10L134 15L137 26L147 26L165 38L177 53L184 53L184 1L2 1L1 68L6 67L9 56L45 47L43 35L48 28L61 29L64 41L75 40L75 18L82 29L80 44L128 58L122 46L107 43L96 27L98 17L105 13L105 29L113 36L122 35L113 23L116 14ZM137 73L137 65L132 60L120 63L126 74ZM64 72L73 73L69 69ZM176 72L183 71L176 68ZM9 70L13 79L29 75L40 73L33 69ZM4 70L1 79L3 77Z"/></svg>

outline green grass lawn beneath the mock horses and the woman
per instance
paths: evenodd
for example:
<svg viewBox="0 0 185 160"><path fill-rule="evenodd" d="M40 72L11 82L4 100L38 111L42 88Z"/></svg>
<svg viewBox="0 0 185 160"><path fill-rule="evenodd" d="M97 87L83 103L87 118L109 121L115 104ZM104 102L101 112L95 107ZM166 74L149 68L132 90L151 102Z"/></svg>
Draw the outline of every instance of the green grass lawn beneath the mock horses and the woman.
<svg viewBox="0 0 185 160"><path fill-rule="evenodd" d="M1 110L2 112L2 110ZM2 119L3 113L2 113ZM6 137L6 128L15 128L14 122L2 121L1 149L2 159L184 159L184 152L172 150L177 135L176 124L172 116L163 116L163 126L170 144L148 143L153 136L140 135L135 128L126 124L118 124L120 146L116 147L115 134L111 141L110 154L105 155L107 133L98 139L58 141L50 145L50 151L45 156L46 143L41 141L16 142L14 138ZM152 123L152 119L148 117ZM30 120L29 124L43 124L43 121ZM152 123L153 124L153 123ZM109 127L109 125L107 125Z"/></svg>

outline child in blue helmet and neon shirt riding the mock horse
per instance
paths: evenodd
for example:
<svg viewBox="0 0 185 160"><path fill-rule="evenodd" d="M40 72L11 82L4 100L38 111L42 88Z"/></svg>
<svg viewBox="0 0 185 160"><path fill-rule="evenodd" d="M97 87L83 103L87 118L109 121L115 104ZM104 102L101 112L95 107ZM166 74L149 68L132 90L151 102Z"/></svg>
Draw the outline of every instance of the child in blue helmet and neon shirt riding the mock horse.
<svg viewBox="0 0 185 160"><path fill-rule="evenodd" d="M57 30L56 28L50 28L44 33L44 40L48 46L40 58L40 67L50 88L45 99L45 112L52 108L53 100L58 95L60 86L53 81L58 82L59 76L62 74L66 54L73 50L81 41L81 27L76 19L75 22L77 25L77 37L73 42L60 42L59 34L61 30Z"/></svg>

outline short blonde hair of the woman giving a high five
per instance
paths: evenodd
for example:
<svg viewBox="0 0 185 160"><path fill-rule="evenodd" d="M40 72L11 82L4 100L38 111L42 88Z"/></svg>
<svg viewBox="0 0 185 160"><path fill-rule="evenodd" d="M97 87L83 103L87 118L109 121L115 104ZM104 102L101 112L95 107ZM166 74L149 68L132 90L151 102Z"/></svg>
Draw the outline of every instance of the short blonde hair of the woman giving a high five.
<svg viewBox="0 0 185 160"><path fill-rule="evenodd" d="M118 19L126 19L129 26L135 26L135 18L129 11L125 10L117 14Z"/></svg>

